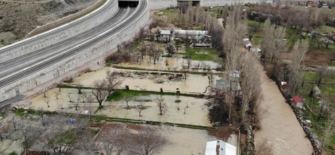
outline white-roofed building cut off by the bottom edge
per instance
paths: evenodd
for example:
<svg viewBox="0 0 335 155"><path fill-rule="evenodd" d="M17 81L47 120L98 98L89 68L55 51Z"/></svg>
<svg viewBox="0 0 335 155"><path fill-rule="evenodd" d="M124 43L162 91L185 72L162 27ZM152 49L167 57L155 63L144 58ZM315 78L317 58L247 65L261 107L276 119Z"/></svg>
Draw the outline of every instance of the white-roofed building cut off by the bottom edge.
<svg viewBox="0 0 335 155"><path fill-rule="evenodd" d="M236 155L236 146L222 140L207 141L205 155Z"/></svg>

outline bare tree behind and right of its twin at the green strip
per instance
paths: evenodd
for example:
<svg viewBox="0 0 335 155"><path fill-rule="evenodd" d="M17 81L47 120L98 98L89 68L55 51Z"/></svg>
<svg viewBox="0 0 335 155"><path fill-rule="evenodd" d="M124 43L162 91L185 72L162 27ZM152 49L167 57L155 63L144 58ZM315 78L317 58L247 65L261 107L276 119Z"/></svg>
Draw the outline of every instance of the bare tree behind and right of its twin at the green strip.
<svg viewBox="0 0 335 155"><path fill-rule="evenodd" d="M118 71L107 70L105 81L107 84L106 88L108 90L109 96L111 91L113 91L116 87L121 86L123 79L121 79Z"/></svg>

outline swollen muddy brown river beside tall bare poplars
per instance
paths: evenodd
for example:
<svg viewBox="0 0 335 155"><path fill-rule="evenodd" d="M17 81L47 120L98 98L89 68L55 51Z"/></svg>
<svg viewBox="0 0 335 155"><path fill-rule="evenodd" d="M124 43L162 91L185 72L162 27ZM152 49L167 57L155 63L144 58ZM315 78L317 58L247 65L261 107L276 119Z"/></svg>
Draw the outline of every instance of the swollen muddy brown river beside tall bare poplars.
<svg viewBox="0 0 335 155"><path fill-rule="evenodd" d="M292 108L285 103L275 82L267 77L262 67L259 69L263 81L260 85L263 99L259 107L267 111L260 122L261 129L254 134L255 149L266 139L274 154L311 154L312 145L305 137Z"/></svg>

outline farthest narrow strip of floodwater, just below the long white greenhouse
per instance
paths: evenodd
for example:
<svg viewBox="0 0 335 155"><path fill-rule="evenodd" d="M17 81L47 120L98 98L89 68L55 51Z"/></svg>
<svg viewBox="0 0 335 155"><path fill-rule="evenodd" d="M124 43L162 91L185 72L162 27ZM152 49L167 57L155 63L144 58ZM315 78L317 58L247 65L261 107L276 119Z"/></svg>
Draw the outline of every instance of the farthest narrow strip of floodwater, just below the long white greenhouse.
<svg viewBox="0 0 335 155"><path fill-rule="evenodd" d="M168 65L165 63L167 59ZM189 68L201 69L215 69L221 67L220 63L214 61L205 61L205 60L190 60ZM160 57L156 64L153 64L152 58L149 59L148 56L145 56L140 63L136 62L123 62L117 65L127 66L127 67L139 67L139 68L149 68L149 69L160 69L160 70L181 70L181 64L188 65L187 59L182 58L182 55L175 55L174 57Z"/></svg>

